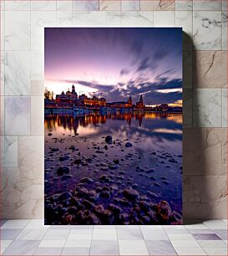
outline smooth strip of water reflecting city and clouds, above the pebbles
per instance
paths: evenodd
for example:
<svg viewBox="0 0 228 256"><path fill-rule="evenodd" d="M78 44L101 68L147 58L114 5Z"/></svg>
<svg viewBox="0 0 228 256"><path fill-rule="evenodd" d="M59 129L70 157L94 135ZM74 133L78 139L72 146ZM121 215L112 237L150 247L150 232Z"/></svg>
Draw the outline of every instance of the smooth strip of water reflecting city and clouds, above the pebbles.
<svg viewBox="0 0 228 256"><path fill-rule="evenodd" d="M182 115L170 113L125 113L107 115L46 115L45 134L90 136L94 142L112 135L129 141L140 137L144 149L182 151Z"/></svg>

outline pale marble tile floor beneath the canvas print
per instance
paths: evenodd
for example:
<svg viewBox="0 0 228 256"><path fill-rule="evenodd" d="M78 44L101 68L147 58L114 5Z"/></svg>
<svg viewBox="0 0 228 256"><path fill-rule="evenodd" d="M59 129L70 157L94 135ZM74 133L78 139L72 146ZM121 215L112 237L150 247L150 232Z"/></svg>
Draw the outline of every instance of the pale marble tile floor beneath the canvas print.
<svg viewBox="0 0 228 256"><path fill-rule="evenodd" d="M44 226L1 220L1 255L227 255L227 220L183 226Z"/></svg>

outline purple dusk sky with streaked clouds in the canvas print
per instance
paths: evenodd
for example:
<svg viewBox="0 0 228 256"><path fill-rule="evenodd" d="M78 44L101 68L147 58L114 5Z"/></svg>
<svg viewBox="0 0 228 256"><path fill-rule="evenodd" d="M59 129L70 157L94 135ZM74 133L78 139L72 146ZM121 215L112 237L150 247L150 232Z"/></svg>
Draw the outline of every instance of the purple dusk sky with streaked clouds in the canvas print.
<svg viewBox="0 0 228 256"><path fill-rule="evenodd" d="M182 104L181 28L45 28L45 87Z"/></svg>

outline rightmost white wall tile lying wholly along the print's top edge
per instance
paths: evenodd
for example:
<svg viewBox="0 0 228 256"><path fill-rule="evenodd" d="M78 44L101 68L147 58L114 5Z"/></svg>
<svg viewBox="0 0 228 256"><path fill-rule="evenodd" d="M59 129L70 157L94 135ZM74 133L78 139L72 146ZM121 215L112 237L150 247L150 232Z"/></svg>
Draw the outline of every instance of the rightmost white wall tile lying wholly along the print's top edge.
<svg viewBox="0 0 228 256"><path fill-rule="evenodd" d="M155 27L175 27L175 12L158 11L154 12Z"/></svg>

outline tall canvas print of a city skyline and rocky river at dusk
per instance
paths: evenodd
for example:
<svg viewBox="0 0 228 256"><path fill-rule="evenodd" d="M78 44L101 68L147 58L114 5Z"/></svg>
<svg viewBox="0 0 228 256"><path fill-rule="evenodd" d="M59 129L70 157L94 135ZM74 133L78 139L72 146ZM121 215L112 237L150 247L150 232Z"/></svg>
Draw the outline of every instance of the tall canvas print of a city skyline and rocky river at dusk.
<svg viewBox="0 0 228 256"><path fill-rule="evenodd" d="M181 224L181 28L44 33L45 224Z"/></svg>

